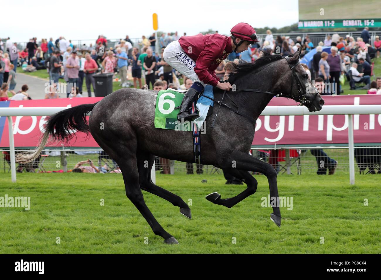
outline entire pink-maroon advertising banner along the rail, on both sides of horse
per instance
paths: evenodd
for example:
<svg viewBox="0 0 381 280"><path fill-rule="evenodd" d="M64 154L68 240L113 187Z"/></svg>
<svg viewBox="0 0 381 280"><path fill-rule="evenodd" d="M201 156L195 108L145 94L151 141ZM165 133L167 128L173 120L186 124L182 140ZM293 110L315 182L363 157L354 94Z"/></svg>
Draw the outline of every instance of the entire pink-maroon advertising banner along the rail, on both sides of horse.
<svg viewBox="0 0 381 280"><path fill-rule="evenodd" d="M327 105L381 104L381 95L323 96ZM2 101L1 107L74 107L95 103L102 98L61 98L26 101ZM273 98L269 106L296 106L293 100ZM381 113L381 112L380 112ZM44 117L13 117L14 146L35 147L40 139ZM260 116L256 123L253 146L298 144L346 144L348 119L344 115ZM73 147L99 147L93 137L76 133ZM381 143L381 114L354 115L355 143ZM9 147L8 122L0 117L0 147Z"/></svg>

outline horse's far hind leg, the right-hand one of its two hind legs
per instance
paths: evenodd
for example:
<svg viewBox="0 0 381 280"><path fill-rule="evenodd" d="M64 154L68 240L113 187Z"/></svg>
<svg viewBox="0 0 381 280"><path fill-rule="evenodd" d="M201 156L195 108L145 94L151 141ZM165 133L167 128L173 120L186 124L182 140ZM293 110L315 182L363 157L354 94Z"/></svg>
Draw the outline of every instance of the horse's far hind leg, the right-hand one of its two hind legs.
<svg viewBox="0 0 381 280"><path fill-rule="evenodd" d="M139 170L139 185L142 190L164 198L172 203L174 206L180 208L180 213L191 219L191 209L181 197L175 195L168 190L165 190L151 181L151 169L155 161L155 156L146 152L137 153L138 170Z"/></svg>

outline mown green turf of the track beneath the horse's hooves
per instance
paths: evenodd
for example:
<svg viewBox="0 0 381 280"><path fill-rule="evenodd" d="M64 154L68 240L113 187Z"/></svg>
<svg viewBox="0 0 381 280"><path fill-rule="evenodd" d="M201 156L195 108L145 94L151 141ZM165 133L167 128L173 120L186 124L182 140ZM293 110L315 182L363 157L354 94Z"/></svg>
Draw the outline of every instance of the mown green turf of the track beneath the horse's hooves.
<svg viewBox="0 0 381 280"><path fill-rule="evenodd" d="M256 194L229 209L205 199L215 191L227 198L243 190L225 185L222 175L157 172L159 186L192 200L189 220L178 207L143 192L179 245L165 245L153 234L126 198L120 174L17 176L11 183L10 174L0 174L0 196L29 196L31 207L0 208L0 253L381 253L380 175L357 176L354 186L347 173L279 176L279 195L293 197L293 210L281 209L278 228L269 219L272 209L261 207L269 194L265 176L256 176Z"/></svg>

